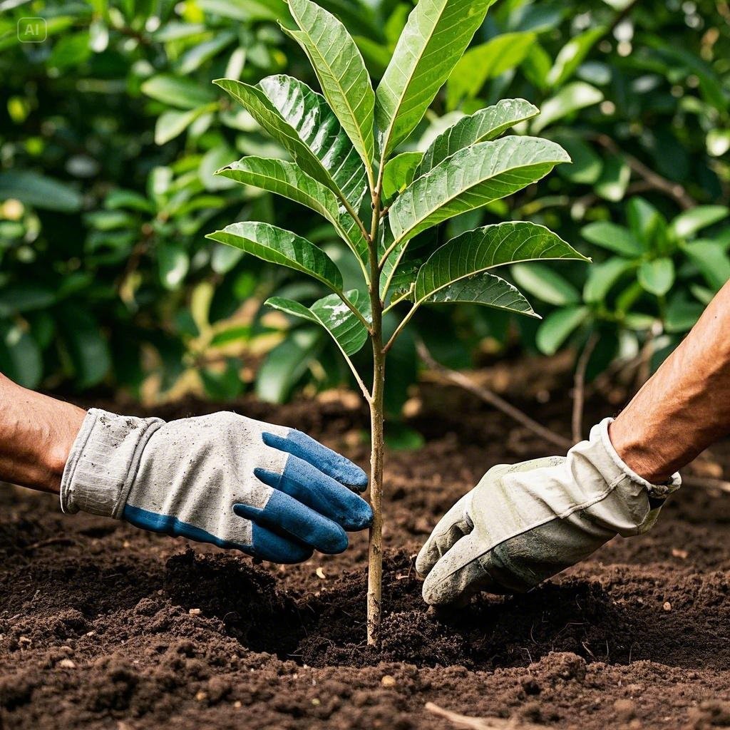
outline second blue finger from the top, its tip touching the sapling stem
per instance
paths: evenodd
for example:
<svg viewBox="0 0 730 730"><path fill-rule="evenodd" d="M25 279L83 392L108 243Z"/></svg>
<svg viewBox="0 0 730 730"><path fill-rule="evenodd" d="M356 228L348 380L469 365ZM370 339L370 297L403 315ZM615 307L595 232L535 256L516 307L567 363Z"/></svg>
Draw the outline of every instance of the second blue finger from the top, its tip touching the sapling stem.
<svg viewBox="0 0 730 730"><path fill-rule="evenodd" d="M287 459L282 474L266 469L254 469L253 473L264 484L306 504L347 531L364 529L372 522L370 505L361 496L298 456Z"/></svg>

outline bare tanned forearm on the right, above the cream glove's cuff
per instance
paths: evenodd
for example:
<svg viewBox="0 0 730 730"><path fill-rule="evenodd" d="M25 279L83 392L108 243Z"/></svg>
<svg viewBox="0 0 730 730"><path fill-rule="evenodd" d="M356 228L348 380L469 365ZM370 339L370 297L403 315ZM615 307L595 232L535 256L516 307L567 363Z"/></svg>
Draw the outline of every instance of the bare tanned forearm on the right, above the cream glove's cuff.
<svg viewBox="0 0 730 730"><path fill-rule="evenodd" d="M730 282L611 424L637 474L661 483L730 433Z"/></svg>

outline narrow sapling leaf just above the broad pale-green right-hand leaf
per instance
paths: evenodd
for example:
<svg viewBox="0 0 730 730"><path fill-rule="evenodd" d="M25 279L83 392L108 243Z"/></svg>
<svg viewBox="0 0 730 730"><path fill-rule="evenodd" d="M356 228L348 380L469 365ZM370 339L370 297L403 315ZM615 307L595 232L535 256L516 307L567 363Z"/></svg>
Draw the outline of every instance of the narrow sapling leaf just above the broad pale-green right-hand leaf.
<svg viewBox="0 0 730 730"><path fill-rule="evenodd" d="M413 177L426 174L439 162L449 158L458 150L475 145L477 142L489 142L518 122L530 119L537 114L539 114L539 110L529 101L503 99L493 107L487 107L469 117L461 118L431 142L426 152L423 153L423 160L416 168Z"/></svg>

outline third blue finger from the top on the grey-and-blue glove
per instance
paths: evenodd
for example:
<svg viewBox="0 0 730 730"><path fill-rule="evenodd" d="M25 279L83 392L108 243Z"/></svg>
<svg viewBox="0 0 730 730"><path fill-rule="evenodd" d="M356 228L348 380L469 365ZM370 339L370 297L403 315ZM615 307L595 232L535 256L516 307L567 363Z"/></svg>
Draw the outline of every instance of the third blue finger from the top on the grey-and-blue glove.
<svg viewBox="0 0 730 730"><path fill-rule="evenodd" d="M320 553L334 555L347 548L347 533L336 522L277 490L272 492L263 509L250 504L234 504L233 511L262 527L284 531Z"/></svg>

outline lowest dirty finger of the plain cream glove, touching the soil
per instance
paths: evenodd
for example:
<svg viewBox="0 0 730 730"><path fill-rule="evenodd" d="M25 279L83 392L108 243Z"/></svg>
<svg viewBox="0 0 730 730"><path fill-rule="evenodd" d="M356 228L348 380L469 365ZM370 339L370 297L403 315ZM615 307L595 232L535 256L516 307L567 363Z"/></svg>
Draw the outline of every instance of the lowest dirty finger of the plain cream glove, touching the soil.
<svg viewBox="0 0 730 730"><path fill-rule="evenodd" d="M423 600L431 606L459 606L486 590L492 580L478 559L482 553L477 534L458 540L426 576Z"/></svg>

